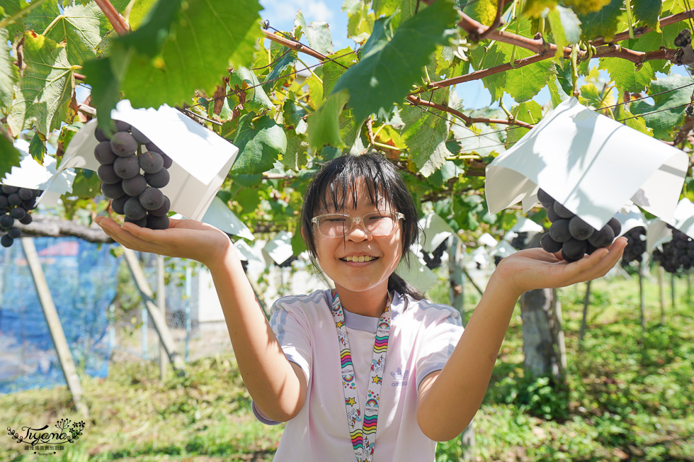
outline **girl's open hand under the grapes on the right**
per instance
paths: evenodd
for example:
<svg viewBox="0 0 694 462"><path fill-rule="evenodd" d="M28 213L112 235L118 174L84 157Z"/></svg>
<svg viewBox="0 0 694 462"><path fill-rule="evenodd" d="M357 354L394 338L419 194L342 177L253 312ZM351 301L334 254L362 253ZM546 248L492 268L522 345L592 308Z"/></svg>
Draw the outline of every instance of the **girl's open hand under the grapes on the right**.
<svg viewBox="0 0 694 462"><path fill-rule="evenodd" d="M567 263L560 254L550 254L541 248L525 249L501 260L494 274L505 284L511 284L518 294L537 288L557 288L591 281L605 276L624 252L626 237L619 237L606 249L574 263ZM501 281L500 281L501 282Z"/></svg>

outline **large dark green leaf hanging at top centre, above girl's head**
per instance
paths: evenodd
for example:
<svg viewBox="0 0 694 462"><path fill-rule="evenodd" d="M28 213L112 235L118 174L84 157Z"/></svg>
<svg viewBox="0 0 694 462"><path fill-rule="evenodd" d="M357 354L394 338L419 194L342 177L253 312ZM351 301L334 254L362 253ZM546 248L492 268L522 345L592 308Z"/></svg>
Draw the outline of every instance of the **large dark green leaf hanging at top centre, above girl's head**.
<svg viewBox="0 0 694 462"><path fill-rule="evenodd" d="M353 108L357 120L389 111L421 77L436 45L448 43L456 18L453 0L436 1L404 21L391 40L381 37L379 43L368 44L370 51L340 77L333 92L348 90L348 107Z"/></svg>

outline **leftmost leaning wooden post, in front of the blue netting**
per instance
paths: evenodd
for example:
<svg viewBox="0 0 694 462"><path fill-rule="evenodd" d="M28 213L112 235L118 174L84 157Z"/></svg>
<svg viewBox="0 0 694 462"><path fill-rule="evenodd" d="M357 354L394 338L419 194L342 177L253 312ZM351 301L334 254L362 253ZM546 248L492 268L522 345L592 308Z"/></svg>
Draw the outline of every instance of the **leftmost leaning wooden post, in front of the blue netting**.
<svg viewBox="0 0 694 462"><path fill-rule="evenodd" d="M74 366L74 362L72 361L72 354L70 354L70 348L67 344L65 332L62 329L62 324L60 324L58 312L55 309L53 298L50 295L50 289L48 288L46 276L43 273L41 262L38 259L36 246L34 245L34 241L31 237L22 237L21 242L26 261L28 261L29 264L31 277L34 280L34 285L36 286L36 291L38 292L38 298L41 302L43 315L46 317L48 330L50 331L50 336L53 339L53 344L55 345L55 352L58 356L62 373L65 376L65 382L67 382L67 388L70 390L70 393L72 393L72 401L74 402L77 412L84 417L89 417L89 409L87 409L86 404L84 404L82 401L82 385L79 382L79 376L77 376L77 370Z"/></svg>

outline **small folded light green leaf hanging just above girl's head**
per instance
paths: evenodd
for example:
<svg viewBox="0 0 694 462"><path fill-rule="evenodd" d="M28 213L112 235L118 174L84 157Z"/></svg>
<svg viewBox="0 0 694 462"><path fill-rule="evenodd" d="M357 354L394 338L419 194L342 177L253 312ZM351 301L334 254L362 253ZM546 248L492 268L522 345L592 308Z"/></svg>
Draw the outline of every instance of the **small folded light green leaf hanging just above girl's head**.
<svg viewBox="0 0 694 462"><path fill-rule="evenodd" d="M314 150L320 150L324 145L332 147L344 147L345 142L340 135L339 116L349 99L348 91L333 92L325 98L325 101L307 118L307 137L309 146Z"/></svg>

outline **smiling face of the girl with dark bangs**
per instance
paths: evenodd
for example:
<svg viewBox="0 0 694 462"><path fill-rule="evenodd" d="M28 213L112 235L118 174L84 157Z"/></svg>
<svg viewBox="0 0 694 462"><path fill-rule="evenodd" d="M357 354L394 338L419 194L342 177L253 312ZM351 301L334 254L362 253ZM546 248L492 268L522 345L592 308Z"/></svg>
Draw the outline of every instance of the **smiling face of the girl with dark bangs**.
<svg viewBox="0 0 694 462"><path fill-rule="evenodd" d="M345 213L353 218L360 218L377 210L392 210L390 204L382 198L380 203L372 203L363 181L358 181L355 187L358 188L356 208L352 208L353 203L348 199L343 210L336 210L331 205L328 210L317 210L315 215ZM387 236L372 236L363 225L355 222L344 237L325 237L317 229L314 230L318 263L339 291L372 291L374 294L387 291L388 278L402 256L400 222L395 232ZM365 257L368 261L353 261L362 259L360 257Z"/></svg>

